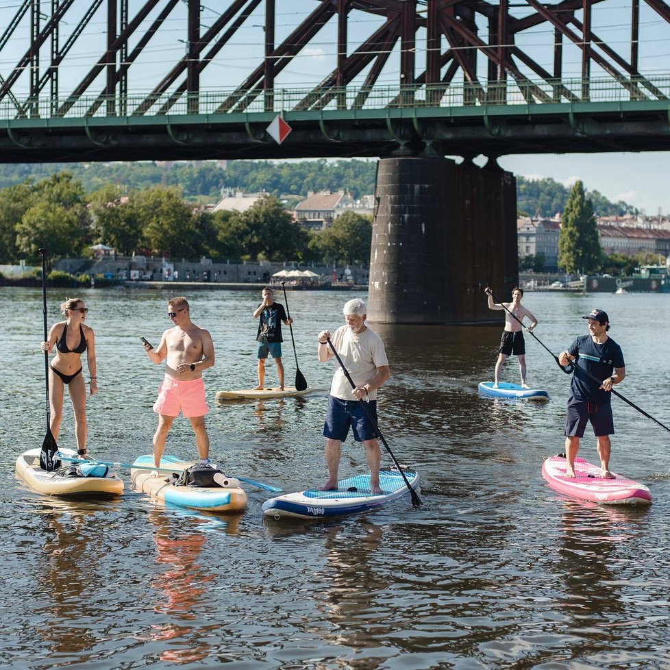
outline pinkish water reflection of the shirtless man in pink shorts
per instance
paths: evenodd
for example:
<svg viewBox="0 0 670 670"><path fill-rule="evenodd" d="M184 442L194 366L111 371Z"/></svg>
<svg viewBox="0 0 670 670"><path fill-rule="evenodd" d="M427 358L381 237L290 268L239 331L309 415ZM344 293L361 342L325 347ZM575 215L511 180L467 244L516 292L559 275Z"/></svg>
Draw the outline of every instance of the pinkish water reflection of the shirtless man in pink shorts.
<svg viewBox="0 0 670 670"><path fill-rule="evenodd" d="M227 526L227 534L236 534L240 515L218 517L178 517L166 514L165 510L151 510L149 521L156 528L153 541L156 544L156 563L162 569L151 586L158 591L156 612L170 617L170 621L151 626L151 638L164 641L169 646L160 654L160 660L173 663L197 662L207 658L212 647L206 640L210 631L204 625L198 628L193 621L202 621L199 605L208 601L208 584L216 578L214 572L206 574L198 558L206 542L203 532L210 523ZM189 527L193 532L188 532Z"/></svg>

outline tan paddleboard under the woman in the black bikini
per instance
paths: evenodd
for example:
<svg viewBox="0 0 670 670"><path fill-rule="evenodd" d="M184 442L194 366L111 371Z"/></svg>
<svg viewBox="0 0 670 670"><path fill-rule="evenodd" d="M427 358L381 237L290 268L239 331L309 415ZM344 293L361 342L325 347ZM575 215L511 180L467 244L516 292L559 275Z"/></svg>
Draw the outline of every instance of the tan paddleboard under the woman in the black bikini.
<svg viewBox="0 0 670 670"><path fill-rule="evenodd" d="M47 472L40 468L40 451L40 448L28 449L16 459L16 476L33 491L44 495L82 498L108 497L123 493L123 481L108 467L95 467L95 461L86 463L85 467L64 463L58 470ZM72 449L60 449L60 453L78 458L77 452Z"/></svg>

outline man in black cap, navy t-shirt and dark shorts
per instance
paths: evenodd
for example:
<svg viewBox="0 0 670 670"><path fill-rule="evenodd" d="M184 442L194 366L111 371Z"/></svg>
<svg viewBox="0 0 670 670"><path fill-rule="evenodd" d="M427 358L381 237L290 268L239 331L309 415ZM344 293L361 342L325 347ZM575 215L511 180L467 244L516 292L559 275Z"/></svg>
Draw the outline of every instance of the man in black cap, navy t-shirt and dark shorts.
<svg viewBox="0 0 670 670"><path fill-rule="evenodd" d="M565 475L575 476L575 457L584 437L586 421L591 421L598 439L598 455L602 476L613 479L610 472L610 435L614 434L610 390L625 377L625 362L621 347L607 334L610 319L603 310L592 310L582 319L588 319L588 335L575 339L567 351L558 354L558 362L565 367L574 362L575 373L570 385L567 416L565 418ZM613 372L612 372L613 371Z"/></svg>

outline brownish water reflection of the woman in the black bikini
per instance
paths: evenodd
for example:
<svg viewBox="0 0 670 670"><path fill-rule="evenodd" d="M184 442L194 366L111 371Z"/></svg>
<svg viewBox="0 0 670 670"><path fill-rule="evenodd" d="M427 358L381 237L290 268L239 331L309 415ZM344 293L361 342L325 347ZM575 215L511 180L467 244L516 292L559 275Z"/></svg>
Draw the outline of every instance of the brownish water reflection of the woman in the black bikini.
<svg viewBox="0 0 670 670"><path fill-rule="evenodd" d="M87 551L86 518L94 514L77 512L66 503L54 502L56 505L66 513L54 509L43 517L47 540L42 547L45 570L40 572L39 588L52 607L49 623L40 632L51 643L53 654L78 654L96 643L95 631L79 623L99 616L92 606L88 608L85 593L95 588L92 584L105 580L95 573L97 551Z"/></svg>

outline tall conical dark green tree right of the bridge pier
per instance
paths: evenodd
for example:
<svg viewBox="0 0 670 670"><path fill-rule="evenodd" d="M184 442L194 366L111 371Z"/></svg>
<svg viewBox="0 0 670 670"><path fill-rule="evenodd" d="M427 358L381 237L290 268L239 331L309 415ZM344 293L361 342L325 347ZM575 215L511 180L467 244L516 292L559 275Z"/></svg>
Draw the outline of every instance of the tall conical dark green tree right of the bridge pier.
<svg viewBox="0 0 670 670"><path fill-rule="evenodd" d="M591 201L586 199L584 184L572 187L563 212L558 236L558 266L567 273L591 273L601 265L602 250Z"/></svg>

